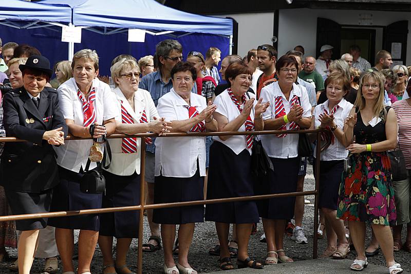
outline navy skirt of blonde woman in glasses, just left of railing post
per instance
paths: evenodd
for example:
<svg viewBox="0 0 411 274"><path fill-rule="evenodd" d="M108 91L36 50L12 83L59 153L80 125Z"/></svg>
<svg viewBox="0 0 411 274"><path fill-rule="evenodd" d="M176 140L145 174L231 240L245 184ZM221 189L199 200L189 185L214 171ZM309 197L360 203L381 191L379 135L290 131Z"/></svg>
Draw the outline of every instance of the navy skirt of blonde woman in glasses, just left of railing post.
<svg viewBox="0 0 411 274"><path fill-rule="evenodd" d="M140 175L119 176L103 171L106 193L102 208L140 205ZM116 238L138 238L140 211L100 214L100 235Z"/></svg>

